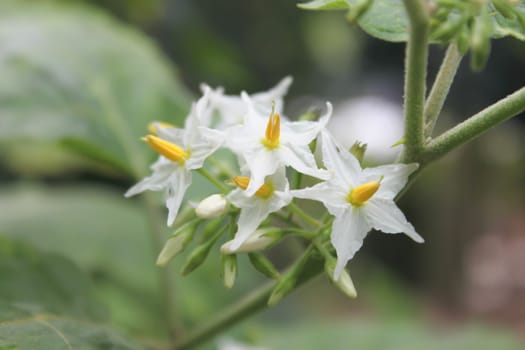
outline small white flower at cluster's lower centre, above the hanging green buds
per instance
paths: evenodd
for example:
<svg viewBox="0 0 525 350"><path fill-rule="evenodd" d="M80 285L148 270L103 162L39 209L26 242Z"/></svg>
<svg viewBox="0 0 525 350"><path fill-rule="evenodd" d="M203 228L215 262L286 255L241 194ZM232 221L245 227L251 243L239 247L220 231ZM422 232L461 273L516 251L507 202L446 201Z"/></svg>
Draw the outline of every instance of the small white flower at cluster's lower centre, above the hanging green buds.
<svg viewBox="0 0 525 350"><path fill-rule="evenodd" d="M270 213L288 205L293 197L290 194L290 185L286 179L284 168L279 169L274 175L268 176L253 196L249 196L246 191L251 182L248 177L236 176L232 182L238 188L230 192L226 198L230 203L241 209L237 221L237 232L228 248L229 251L233 252L249 239Z"/></svg>

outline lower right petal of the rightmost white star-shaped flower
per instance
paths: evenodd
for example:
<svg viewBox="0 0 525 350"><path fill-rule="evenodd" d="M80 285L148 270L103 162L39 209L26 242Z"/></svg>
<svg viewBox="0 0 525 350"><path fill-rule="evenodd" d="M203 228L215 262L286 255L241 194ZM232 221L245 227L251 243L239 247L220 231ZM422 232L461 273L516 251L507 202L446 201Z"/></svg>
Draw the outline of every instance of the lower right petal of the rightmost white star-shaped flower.
<svg viewBox="0 0 525 350"><path fill-rule="evenodd" d="M424 242L392 200L372 198L361 210L365 213L368 223L376 230L385 233L403 232L418 243Z"/></svg>

